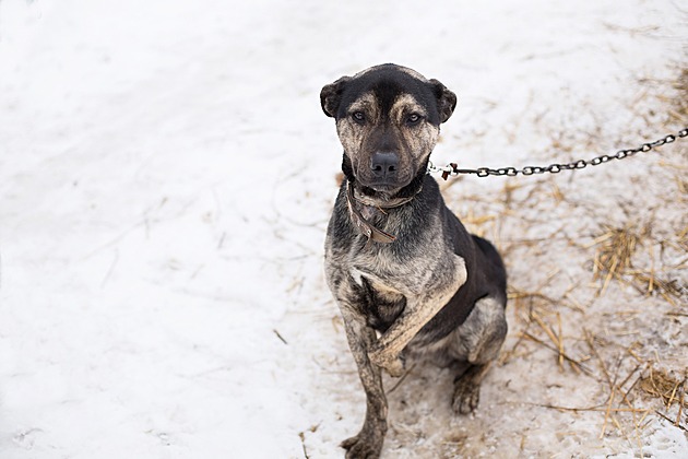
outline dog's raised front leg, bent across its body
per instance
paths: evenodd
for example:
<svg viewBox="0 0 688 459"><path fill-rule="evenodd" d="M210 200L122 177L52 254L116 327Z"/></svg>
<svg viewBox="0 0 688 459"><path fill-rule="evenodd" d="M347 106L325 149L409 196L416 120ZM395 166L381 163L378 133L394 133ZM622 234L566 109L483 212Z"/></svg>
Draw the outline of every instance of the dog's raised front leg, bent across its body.
<svg viewBox="0 0 688 459"><path fill-rule="evenodd" d="M401 352L466 281L463 258L455 256L452 264L453 269L449 271L452 274L439 285L423 285L422 294L407 296L404 311L368 352L373 364L392 376L400 376Z"/></svg>

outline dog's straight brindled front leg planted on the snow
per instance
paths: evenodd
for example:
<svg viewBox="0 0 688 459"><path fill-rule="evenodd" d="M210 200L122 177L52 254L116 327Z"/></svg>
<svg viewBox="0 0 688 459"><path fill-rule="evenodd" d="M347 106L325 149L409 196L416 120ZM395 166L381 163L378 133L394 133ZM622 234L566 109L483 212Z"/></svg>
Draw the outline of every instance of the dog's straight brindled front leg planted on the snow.
<svg viewBox="0 0 688 459"><path fill-rule="evenodd" d="M344 308L342 318L346 328L348 346L358 366L358 375L367 399L366 420L360 432L342 442L342 447L347 450L347 459L375 459L380 456L387 433L387 398L382 387L382 376L380 368L368 357L368 351L375 344L377 337L375 330L368 327L363 318Z"/></svg>

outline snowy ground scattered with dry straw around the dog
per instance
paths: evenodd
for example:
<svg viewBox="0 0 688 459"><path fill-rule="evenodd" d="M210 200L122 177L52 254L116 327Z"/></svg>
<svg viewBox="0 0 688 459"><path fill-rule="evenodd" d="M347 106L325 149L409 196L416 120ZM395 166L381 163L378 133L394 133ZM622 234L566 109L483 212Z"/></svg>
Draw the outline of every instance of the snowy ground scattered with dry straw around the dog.
<svg viewBox="0 0 688 459"><path fill-rule="evenodd" d="M590 158L686 126L687 24L661 0L0 0L0 457L342 457L364 396L321 268L322 85L442 81L436 164ZM413 366L383 457L688 457L687 144L443 185L505 252L510 334L467 417ZM602 289L621 227L677 295Z"/></svg>

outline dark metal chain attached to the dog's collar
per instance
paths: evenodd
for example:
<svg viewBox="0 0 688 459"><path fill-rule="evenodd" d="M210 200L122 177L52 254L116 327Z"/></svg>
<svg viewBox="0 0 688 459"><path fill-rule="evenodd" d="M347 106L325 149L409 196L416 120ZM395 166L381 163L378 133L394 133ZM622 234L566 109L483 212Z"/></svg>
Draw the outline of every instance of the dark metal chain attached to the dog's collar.
<svg viewBox="0 0 688 459"><path fill-rule="evenodd" d="M668 134L654 142L643 143L637 149L619 150L615 154L603 154L602 156L593 157L592 160L578 160L571 163L555 163L548 166L525 166L522 169L515 167L500 167L497 169L490 169L489 167L478 167L477 169L460 169L456 163L449 163L444 167L436 167L431 162L428 165L428 173L442 173L442 178L447 180L450 175L459 174L475 174L478 177L487 177L490 175L499 175L507 177L515 177L517 175L535 175L535 174L558 174L561 170L582 169L588 166L597 166L600 164L608 163L612 160L622 160L625 157L633 156L640 152L649 152L655 146L664 145L666 143L673 143L676 139L683 139L688 137L688 128L681 129L677 134Z"/></svg>

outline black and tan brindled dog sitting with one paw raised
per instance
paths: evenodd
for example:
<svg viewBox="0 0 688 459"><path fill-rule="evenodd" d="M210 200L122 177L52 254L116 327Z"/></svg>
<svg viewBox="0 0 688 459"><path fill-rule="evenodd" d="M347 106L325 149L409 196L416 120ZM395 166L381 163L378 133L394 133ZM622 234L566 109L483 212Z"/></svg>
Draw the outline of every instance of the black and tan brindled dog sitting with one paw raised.
<svg viewBox="0 0 688 459"><path fill-rule="evenodd" d="M387 63L325 85L320 103L344 148L325 274L367 397L360 432L341 446L349 459L378 458L388 428L381 372L401 376L405 358L455 368L453 410L477 408L507 334L507 273L427 174L454 93Z"/></svg>

